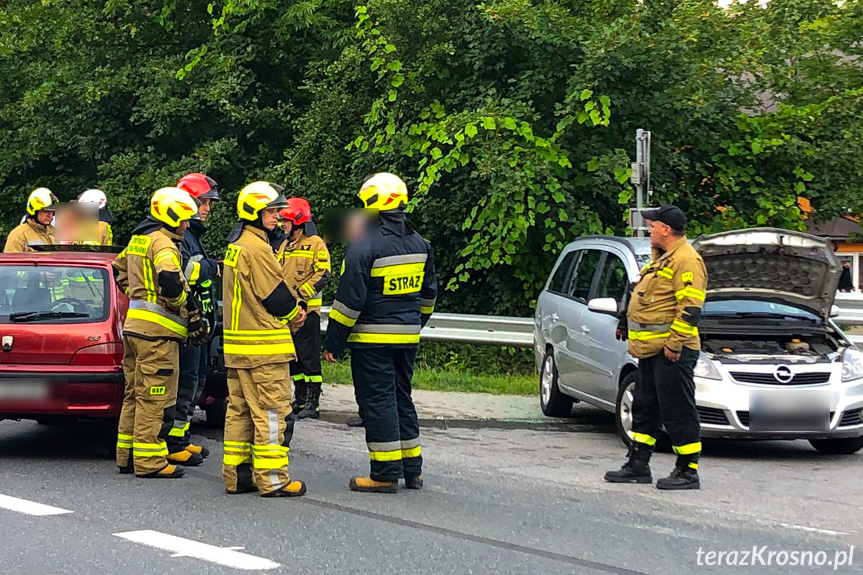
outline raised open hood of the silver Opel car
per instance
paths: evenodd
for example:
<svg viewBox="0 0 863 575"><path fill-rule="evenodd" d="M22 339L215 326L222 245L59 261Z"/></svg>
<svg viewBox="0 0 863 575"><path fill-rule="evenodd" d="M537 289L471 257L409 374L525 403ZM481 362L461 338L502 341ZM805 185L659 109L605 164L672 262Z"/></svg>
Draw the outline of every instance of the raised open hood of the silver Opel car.
<svg viewBox="0 0 863 575"><path fill-rule="evenodd" d="M692 247L707 266L707 299L761 299L830 317L841 270L826 240L752 228L702 236Z"/></svg>

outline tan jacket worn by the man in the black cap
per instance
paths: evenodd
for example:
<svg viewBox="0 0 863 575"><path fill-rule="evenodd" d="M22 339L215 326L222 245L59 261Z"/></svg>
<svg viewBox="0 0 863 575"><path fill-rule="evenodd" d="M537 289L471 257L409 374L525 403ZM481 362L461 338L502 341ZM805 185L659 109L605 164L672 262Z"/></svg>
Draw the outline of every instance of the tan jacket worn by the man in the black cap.
<svg viewBox="0 0 863 575"><path fill-rule="evenodd" d="M663 347L701 349L698 321L706 290L704 261L685 237L664 253L654 248L626 314L632 356L651 357Z"/></svg>

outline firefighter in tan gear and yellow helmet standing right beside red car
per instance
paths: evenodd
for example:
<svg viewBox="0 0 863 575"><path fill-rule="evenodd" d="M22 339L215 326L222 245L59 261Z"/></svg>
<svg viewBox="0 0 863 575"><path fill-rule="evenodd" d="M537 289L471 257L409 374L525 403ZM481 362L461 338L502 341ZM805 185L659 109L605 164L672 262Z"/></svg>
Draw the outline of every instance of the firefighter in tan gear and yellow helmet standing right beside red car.
<svg viewBox="0 0 863 575"><path fill-rule="evenodd" d="M129 295L123 327L126 391L117 432L117 466L138 477L174 478L184 472L167 461L177 398L179 344L206 334L180 268L178 244L197 204L187 192L162 188L150 216L132 232L114 261L120 289Z"/></svg>

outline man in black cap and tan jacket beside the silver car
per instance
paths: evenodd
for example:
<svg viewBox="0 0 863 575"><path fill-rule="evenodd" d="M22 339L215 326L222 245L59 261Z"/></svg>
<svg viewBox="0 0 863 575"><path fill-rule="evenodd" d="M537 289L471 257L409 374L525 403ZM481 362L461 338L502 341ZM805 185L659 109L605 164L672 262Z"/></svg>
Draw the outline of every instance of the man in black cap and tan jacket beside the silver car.
<svg viewBox="0 0 863 575"><path fill-rule="evenodd" d="M629 353L638 358L632 405L632 447L610 483L651 483L650 455L662 426L677 463L659 489L699 489L701 423L693 370L701 349L698 321L707 290L704 261L686 241L686 214L677 206L641 212L650 228L651 262L641 270L626 313Z"/></svg>

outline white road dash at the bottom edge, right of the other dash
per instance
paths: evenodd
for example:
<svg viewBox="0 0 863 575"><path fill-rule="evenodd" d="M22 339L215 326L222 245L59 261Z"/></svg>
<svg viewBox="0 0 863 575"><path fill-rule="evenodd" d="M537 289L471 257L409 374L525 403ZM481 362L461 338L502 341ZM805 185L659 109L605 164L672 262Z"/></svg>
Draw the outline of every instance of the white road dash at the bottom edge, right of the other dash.
<svg viewBox="0 0 863 575"><path fill-rule="evenodd" d="M149 529L114 533L114 536L141 545L170 551L171 557L192 557L243 571L262 571L264 569L277 569L281 566L263 557L240 553L236 547L216 547Z"/></svg>

